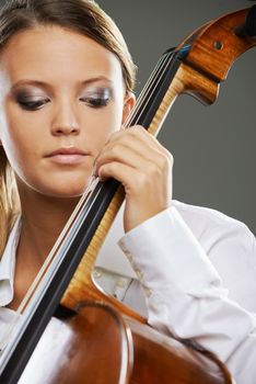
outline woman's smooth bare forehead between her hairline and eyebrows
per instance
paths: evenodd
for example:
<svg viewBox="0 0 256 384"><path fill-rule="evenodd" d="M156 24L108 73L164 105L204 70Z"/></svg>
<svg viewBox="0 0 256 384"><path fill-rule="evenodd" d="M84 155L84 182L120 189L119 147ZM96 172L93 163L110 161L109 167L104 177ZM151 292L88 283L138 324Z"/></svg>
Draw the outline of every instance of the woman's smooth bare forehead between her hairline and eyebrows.
<svg viewBox="0 0 256 384"><path fill-rule="evenodd" d="M121 81L121 67L112 52L59 26L38 26L11 37L0 54L0 70L13 81L19 77L68 80L81 75Z"/></svg>

